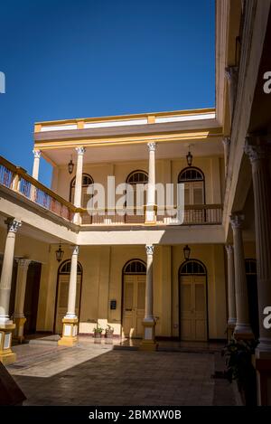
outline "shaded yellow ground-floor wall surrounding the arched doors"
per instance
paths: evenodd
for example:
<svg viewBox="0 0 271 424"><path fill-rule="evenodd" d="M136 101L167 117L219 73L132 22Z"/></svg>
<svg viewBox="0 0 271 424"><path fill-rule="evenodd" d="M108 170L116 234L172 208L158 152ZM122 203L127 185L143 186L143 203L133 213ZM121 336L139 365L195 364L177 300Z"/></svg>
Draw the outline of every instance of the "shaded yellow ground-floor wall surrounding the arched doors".
<svg viewBox="0 0 271 424"><path fill-rule="evenodd" d="M194 245L192 258L200 259L208 272L209 337L225 338L226 287L223 246ZM70 248L64 247L63 260L70 259ZM42 266L38 330L52 331L59 263L51 249L50 261ZM145 261L145 246L84 247L79 250L83 267L79 332L92 333L98 322L107 323L121 332L122 270L130 259ZM154 316L158 336L179 335L178 270L183 261L183 245L154 248ZM117 300L117 309L110 310L110 300Z"/></svg>

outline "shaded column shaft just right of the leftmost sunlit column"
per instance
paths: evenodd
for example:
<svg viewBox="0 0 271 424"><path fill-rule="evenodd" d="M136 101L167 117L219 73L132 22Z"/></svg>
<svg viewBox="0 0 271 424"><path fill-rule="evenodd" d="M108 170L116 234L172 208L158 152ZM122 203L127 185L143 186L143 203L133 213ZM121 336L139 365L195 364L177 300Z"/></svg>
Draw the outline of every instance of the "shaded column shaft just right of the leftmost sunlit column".
<svg viewBox="0 0 271 424"><path fill-rule="evenodd" d="M30 263L30 259L18 259L14 318L24 318L23 306L25 297L25 287L27 271Z"/></svg>

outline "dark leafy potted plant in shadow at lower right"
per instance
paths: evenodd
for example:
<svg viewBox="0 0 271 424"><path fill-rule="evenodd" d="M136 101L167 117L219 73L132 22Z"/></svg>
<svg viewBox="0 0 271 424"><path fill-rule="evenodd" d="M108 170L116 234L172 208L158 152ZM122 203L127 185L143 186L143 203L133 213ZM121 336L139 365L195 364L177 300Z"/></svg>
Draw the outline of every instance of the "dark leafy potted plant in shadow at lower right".
<svg viewBox="0 0 271 424"><path fill-rule="evenodd" d="M229 382L237 381L238 391L246 405L257 404L256 371L251 361L257 344L256 340L232 339L222 350L227 366L225 376Z"/></svg>

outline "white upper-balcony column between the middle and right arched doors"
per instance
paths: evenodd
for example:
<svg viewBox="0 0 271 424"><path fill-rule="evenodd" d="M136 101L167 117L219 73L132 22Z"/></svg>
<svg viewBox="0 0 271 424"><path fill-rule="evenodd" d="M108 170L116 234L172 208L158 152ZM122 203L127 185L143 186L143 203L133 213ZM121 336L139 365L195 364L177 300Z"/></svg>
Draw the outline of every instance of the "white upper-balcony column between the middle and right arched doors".
<svg viewBox="0 0 271 424"><path fill-rule="evenodd" d="M148 143L149 150L149 174L147 185L147 204L145 212L145 221L154 223L156 221L155 213L155 148L156 143Z"/></svg>

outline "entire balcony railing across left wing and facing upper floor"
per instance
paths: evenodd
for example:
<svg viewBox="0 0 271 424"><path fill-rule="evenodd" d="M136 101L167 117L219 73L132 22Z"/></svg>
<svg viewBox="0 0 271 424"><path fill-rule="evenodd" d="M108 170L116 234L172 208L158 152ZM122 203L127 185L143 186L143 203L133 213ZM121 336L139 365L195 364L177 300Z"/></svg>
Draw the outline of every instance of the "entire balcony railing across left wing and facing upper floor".
<svg viewBox="0 0 271 424"><path fill-rule="evenodd" d="M82 226L145 224L145 207L139 208L140 211L136 208L133 208L132 211L127 208L113 208L105 211L76 208L27 174L23 168L13 165L2 156L0 156L0 184L67 221L73 221L74 215L79 214ZM156 213L156 226L180 225L180 221L176 217L164 213L164 208L159 206ZM222 207L220 204L185 205L184 212L181 214L182 225L212 225L221 224L221 221Z"/></svg>

